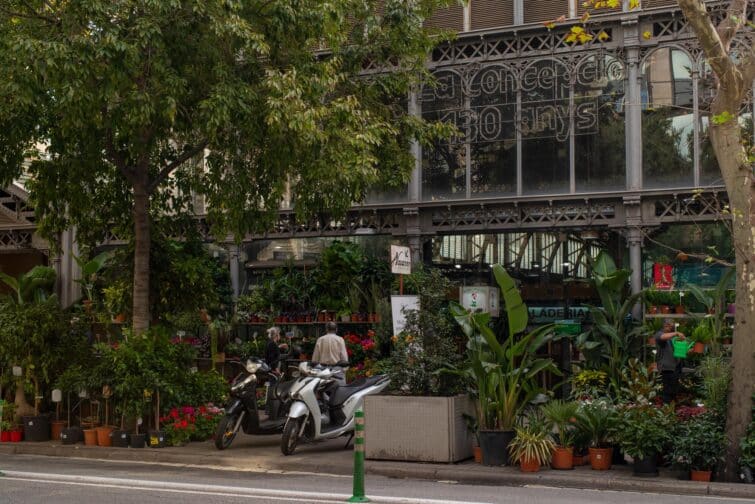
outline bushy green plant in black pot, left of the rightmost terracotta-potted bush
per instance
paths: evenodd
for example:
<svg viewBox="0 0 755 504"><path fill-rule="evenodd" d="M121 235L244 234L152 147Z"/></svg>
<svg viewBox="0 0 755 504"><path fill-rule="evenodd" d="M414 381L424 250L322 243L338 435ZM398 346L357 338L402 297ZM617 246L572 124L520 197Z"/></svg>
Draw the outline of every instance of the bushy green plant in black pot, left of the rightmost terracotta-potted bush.
<svg viewBox="0 0 755 504"><path fill-rule="evenodd" d="M634 460L635 476L658 476L656 460L671 441L673 410L652 404L627 404L618 413L614 440Z"/></svg>

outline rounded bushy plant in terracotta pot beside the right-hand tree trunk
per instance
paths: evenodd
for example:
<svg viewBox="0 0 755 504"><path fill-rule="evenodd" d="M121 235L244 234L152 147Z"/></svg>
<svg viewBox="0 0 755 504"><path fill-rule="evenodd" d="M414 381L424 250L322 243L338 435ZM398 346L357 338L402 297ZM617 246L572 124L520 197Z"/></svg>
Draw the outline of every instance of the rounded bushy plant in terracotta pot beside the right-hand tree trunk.
<svg viewBox="0 0 755 504"><path fill-rule="evenodd" d="M726 437L718 415L709 411L677 425L673 433L673 460L690 471L693 481L710 481L716 466L723 461Z"/></svg>

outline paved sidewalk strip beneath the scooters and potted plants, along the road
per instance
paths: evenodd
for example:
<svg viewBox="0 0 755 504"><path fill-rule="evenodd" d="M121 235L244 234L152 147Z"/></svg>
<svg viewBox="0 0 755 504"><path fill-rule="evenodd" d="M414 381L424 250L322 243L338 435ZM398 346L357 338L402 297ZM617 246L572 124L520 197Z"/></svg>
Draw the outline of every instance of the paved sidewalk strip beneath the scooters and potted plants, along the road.
<svg viewBox="0 0 755 504"><path fill-rule="evenodd" d="M211 468L270 472L326 473L342 476L352 474L353 456L344 449L345 438L297 448L296 453L284 457L279 448L280 436L239 435L224 451L215 449L212 442L190 443L179 448L105 448L96 446L61 445L58 442L2 443L2 459L13 454L81 457L90 459L169 463ZM657 478L632 476L631 466L614 466L610 471L593 471L589 466L572 471L542 469L534 474L521 473L513 467L484 467L472 461L459 464L429 464L368 460L367 474L391 478L455 481L469 485L526 486L540 485L557 488L585 488L633 492L668 493L678 495L711 495L755 500L755 485L731 483L699 483L682 481L677 473L662 470ZM368 476L369 480L369 476Z"/></svg>

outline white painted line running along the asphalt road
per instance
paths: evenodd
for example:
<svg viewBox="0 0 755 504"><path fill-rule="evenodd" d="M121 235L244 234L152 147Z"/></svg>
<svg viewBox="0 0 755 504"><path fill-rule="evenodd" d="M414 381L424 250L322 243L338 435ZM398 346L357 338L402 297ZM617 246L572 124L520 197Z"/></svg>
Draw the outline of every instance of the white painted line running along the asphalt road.
<svg viewBox="0 0 755 504"><path fill-rule="evenodd" d="M225 485L198 485L194 483L175 483L169 481L148 481L122 478L103 478L95 476L43 474L23 471L4 471L2 480L36 481L40 483L94 486L102 488L123 488L168 493L192 493L198 495L218 495L234 497L264 497L274 500L293 500L317 503L342 503L349 498L347 494L326 492L304 492L278 490L271 488L236 487ZM439 499L414 499L409 497L389 497L370 495L370 501L385 504L491 504L486 502L454 501Z"/></svg>

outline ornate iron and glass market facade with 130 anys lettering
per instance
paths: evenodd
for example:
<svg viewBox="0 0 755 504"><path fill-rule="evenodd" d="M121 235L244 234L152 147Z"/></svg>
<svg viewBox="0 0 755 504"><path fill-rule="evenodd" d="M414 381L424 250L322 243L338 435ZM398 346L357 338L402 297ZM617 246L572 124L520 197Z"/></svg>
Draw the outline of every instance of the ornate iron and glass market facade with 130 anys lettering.
<svg viewBox="0 0 755 504"><path fill-rule="evenodd" d="M661 254L658 233L676 233L679 249L710 245L726 206L707 139L711 74L674 0L640 4L594 12L592 39L581 44L568 41L584 14L577 0L469 0L436 13L428 24L458 35L433 51L436 85L409 107L453 123L458 135L414 145L408 187L375 191L344 219L303 222L284 204L267 233L226 244L235 293L349 237L408 245L414 261L467 283L485 282L489 265L502 263L523 280L525 297L562 306L579 297L564 291L564 278L586 277L598 250L630 267L639 290ZM711 2L714 16L723 7ZM750 132L751 109L750 101L740 113ZM25 196L13 191L6 199L21 208ZM201 203L197 210L201 217ZM33 230L24 219L0 223L6 254L45 249L33 233L10 238ZM65 251L43 256L75 278Z"/></svg>

